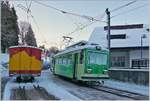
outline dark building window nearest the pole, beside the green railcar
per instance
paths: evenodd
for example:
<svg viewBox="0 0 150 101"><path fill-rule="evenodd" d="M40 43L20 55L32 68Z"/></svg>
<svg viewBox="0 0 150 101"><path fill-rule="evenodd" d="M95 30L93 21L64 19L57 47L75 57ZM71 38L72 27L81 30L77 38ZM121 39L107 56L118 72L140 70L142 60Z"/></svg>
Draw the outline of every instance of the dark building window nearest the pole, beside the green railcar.
<svg viewBox="0 0 150 101"><path fill-rule="evenodd" d="M125 67L125 56L111 57L111 67Z"/></svg>

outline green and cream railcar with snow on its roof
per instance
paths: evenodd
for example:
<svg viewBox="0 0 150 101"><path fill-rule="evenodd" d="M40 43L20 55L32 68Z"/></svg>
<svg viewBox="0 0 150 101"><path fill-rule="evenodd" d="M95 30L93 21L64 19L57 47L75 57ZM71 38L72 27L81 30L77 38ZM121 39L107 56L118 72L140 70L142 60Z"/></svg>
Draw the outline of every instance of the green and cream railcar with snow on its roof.
<svg viewBox="0 0 150 101"><path fill-rule="evenodd" d="M108 79L108 51L98 46L80 46L53 57L54 74L80 81Z"/></svg>

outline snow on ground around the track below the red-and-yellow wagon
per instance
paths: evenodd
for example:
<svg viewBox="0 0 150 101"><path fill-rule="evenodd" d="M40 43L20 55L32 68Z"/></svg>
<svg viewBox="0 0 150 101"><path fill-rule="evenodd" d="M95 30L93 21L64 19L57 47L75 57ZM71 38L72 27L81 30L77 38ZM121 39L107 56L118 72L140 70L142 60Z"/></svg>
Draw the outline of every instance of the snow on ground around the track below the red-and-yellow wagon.
<svg viewBox="0 0 150 101"><path fill-rule="evenodd" d="M41 77L37 78L33 84L36 86L39 84L39 86L45 88L45 90L49 94L54 95L55 97L61 100L80 100L78 97L72 95L67 90L58 86L54 81L52 81L49 78L50 76L49 72L50 72L49 70L43 71ZM3 100L10 100L11 90L14 88L19 88L19 83L14 82L14 81L15 81L15 78L12 78L6 84L4 94L3 94L4 95ZM20 83L20 86L21 87L25 86L26 89L33 89L33 84L32 83Z"/></svg>

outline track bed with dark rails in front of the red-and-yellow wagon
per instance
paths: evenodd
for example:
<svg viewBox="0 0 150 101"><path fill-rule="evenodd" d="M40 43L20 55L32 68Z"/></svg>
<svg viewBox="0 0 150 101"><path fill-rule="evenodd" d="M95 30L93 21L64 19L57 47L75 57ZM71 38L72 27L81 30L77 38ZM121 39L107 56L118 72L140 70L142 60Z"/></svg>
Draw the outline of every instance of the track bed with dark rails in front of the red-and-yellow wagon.
<svg viewBox="0 0 150 101"><path fill-rule="evenodd" d="M44 88L34 83L19 84L19 88L14 89L13 96L13 100L58 100L58 98L49 94Z"/></svg>

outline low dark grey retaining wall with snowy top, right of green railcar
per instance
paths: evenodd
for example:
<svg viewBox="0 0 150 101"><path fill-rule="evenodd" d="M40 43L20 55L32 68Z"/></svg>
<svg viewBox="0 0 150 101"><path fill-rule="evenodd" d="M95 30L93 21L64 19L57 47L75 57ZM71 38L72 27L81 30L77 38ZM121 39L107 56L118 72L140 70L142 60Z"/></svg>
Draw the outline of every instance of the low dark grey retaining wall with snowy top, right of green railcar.
<svg viewBox="0 0 150 101"><path fill-rule="evenodd" d="M110 69L110 79L149 86L149 71L146 69Z"/></svg>

